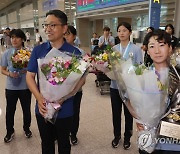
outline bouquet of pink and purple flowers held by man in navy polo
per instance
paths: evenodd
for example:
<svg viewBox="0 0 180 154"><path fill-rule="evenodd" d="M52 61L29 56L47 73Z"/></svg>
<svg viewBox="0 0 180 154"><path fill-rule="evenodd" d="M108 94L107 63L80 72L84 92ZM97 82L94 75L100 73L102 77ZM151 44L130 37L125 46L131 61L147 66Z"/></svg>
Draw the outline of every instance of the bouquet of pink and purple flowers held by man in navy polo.
<svg viewBox="0 0 180 154"><path fill-rule="evenodd" d="M54 123L61 106L58 103L68 95L85 73L88 63L55 48L43 59L38 59L40 92L46 100L45 119Z"/></svg>

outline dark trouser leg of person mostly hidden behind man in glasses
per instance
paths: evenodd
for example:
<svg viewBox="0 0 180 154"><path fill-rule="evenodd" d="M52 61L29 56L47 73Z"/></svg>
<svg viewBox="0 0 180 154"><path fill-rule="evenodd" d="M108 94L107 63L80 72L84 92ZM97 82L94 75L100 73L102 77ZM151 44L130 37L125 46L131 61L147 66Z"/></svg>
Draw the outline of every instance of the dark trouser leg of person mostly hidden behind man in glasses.
<svg viewBox="0 0 180 154"><path fill-rule="evenodd" d="M76 136L78 129L79 129L79 114L80 114L80 105L81 105L81 99L82 99L82 91L79 91L74 96L74 115L73 115L73 121L72 121L72 127L71 127L71 134Z"/></svg>

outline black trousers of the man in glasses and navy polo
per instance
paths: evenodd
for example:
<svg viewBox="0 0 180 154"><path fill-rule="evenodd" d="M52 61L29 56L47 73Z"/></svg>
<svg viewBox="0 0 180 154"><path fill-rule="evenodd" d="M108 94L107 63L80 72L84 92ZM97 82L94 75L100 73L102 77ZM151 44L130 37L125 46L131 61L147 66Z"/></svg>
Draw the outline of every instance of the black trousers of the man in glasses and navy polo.
<svg viewBox="0 0 180 154"><path fill-rule="evenodd" d="M55 154L55 138L58 141L59 154L70 154L69 134L72 117L56 119L55 124L46 122L41 115L36 114L36 119L41 137L42 154Z"/></svg>

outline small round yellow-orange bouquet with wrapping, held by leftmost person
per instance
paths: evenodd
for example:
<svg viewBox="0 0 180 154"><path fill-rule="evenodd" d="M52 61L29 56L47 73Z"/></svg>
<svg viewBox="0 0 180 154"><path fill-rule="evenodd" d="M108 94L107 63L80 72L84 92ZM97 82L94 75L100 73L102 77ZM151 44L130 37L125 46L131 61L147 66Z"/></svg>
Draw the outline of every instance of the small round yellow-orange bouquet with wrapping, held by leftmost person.
<svg viewBox="0 0 180 154"><path fill-rule="evenodd" d="M12 66L9 67L9 71L17 73L17 78L12 78L12 83L18 86L21 82L22 74L26 72L31 52L28 49L14 50L14 54L11 56Z"/></svg>

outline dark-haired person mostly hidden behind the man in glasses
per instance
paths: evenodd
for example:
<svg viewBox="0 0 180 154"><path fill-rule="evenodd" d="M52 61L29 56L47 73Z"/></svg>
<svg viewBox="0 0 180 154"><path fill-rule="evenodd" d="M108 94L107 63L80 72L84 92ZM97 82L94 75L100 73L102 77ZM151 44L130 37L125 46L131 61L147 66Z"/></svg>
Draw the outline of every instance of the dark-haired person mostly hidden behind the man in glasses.
<svg viewBox="0 0 180 154"><path fill-rule="evenodd" d="M75 46L74 40L76 39L76 34L77 34L76 29L73 26L69 25L68 30L65 33L64 37L69 44ZM75 47L78 48L77 46ZM79 50L83 55L84 51L81 49ZM85 81L83 82L85 83ZM73 122L72 122L71 135L70 135L72 145L78 144L77 132L79 129L79 114L80 114L81 99L82 99L82 88L80 88L79 91L74 96L74 104L73 104L74 115L73 115Z"/></svg>

